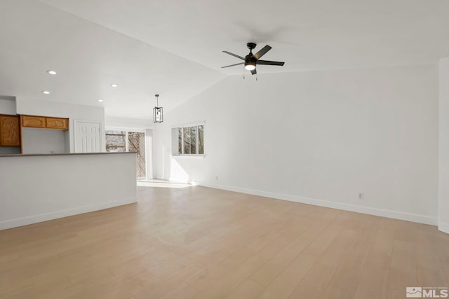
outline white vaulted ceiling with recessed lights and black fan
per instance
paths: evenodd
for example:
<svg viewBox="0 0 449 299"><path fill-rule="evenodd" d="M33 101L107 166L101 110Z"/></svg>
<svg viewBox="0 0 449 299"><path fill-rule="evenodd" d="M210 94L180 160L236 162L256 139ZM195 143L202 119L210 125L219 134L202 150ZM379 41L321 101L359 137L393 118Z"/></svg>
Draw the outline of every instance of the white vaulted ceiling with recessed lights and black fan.
<svg viewBox="0 0 449 299"><path fill-rule="evenodd" d="M449 0L0 0L0 95L98 105L149 118L227 75L244 56L273 47L259 76L436 63L449 56ZM58 75L48 76L46 69ZM112 89L109 84L118 83ZM51 90L43 96L40 91Z"/></svg>

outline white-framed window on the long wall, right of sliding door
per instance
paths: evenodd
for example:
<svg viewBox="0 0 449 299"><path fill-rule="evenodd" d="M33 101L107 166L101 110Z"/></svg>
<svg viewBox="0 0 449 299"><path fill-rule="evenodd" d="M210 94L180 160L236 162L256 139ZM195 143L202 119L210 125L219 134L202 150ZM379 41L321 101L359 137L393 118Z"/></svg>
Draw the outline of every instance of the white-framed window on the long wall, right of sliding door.
<svg viewBox="0 0 449 299"><path fill-rule="evenodd" d="M204 155L204 125L177 127L177 155Z"/></svg>

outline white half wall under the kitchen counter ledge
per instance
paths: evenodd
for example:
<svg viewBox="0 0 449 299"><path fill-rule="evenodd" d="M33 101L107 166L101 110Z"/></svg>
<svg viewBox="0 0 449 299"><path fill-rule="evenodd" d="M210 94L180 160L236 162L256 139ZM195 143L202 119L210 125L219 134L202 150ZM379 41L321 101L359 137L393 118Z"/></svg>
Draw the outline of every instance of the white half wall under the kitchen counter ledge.
<svg viewBox="0 0 449 299"><path fill-rule="evenodd" d="M0 230L129 204L135 153L0 157L0 190Z"/></svg>

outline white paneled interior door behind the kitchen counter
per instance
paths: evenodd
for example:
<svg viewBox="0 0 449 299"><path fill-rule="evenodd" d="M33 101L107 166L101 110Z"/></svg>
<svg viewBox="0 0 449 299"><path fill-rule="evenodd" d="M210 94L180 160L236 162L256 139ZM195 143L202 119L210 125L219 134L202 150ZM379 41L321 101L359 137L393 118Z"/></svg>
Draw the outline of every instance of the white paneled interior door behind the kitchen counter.
<svg viewBox="0 0 449 299"><path fill-rule="evenodd" d="M75 153L101 151L100 123L75 120Z"/></svg>

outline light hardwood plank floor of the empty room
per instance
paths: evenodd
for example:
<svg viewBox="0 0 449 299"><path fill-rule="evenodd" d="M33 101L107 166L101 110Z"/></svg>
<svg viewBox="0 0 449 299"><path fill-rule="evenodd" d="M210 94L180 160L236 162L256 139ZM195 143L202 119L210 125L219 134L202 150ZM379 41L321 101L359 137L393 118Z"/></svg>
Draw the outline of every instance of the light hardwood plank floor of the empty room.
<svg viewBox="0 0 449 299"><path fill-rule="evenodd" d="M436 227L199 186L0 231L0 298L405 298L448 286Z"/></svg>

